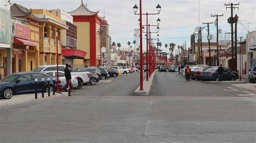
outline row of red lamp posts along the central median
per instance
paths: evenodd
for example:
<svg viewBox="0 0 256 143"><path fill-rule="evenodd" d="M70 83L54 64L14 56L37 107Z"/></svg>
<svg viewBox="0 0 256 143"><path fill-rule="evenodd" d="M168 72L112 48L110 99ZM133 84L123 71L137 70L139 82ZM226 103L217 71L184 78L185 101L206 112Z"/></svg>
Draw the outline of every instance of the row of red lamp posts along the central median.
<svg viewBox="0 0 256 143"><path fill-rule="evenodd" d="M138 6L135 5L133 6L133 11L134 15L139 15L139 29L140 29L140 91L144 91L143 89L143 66L144 66L144 58L143 58L143 30L144 26L146 26L146 81L149 81L149 77L151 77L152 73L156 69L156 53L154 52L154 45L153 45L153 38L151 38L152 33L158 33L158 32L151 32L150 31L150 26L157 26L157 31L159 31L159 24L160 24L160 19L157 19L158 25L150 25L148 23L148 16L149 15L159 15L161 11L161 6L158 4L157 5L157 12L158 13L142 13L142 0L139 0L139 13L137 14L136 12L138 11ZM142 16L146 15L146 25L143 26L142 23ZM158 35L159 38L159 35ZM159 40L159 39L157 39Z"/></svg>

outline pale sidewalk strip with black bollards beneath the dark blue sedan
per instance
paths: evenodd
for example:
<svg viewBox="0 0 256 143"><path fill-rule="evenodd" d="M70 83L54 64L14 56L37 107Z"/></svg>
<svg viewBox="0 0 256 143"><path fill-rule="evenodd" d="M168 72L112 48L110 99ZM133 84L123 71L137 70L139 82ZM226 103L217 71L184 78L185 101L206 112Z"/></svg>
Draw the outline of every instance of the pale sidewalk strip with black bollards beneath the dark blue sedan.
<svg viewBox="0 0 256 143"><path fill-rule="evenodd" d="M52 95L50 97L55 96L68 96L68 92L62 92L62 94L56 93L55 95ZM35 94L26 94L26 95L14 95L11 97L11 99L3 99L0 98L0 106L6 106L6 105L15 105L15 104L21 104L25 102L30 101L36 101L36 100L42 100L47 99L48 93L44 93L44 98L42 98L42 94L37 94L37 99L35 99Z"/></svg>

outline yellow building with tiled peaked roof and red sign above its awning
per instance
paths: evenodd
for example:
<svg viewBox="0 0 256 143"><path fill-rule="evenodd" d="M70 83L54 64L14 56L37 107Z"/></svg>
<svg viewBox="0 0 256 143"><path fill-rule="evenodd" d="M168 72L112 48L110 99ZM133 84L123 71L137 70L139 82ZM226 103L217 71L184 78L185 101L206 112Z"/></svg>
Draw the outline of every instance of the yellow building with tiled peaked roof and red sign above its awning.
<svg viewBox="0 0 256 143"><path fill-rule="evenodd" d="M14 24L12 73L31 71L39 66L39 33L41 20L18 4L11 5Z"/></svg>

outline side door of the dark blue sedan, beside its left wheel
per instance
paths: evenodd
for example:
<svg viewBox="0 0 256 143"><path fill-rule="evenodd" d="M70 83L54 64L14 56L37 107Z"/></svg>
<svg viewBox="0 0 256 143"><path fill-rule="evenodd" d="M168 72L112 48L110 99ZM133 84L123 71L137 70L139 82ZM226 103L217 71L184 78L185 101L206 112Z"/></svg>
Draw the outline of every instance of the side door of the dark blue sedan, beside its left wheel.
<svg viewBox="0 0 256 143"><path fill-rule="evenodd" d="M14 89L16 90L16 93L31 92L33 88L31 84L31 74L25 74L18 78L18 82L15 83Z"/></svg>

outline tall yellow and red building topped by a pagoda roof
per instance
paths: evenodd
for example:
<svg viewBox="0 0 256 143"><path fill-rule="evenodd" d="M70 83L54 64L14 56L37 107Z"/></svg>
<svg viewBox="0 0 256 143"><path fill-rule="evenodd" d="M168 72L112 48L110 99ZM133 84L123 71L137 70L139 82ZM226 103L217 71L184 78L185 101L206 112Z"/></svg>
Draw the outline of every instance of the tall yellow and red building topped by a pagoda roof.
<svg viewBox="0 0 256 143"><path fill-rule="evenodd" d="M87 4L82 4L71 12L73 24L77 26L77 46L87 52L85 59L76 59L76 65L98 66L101 63L102 18L98 12L90 11Z"/></svg>

